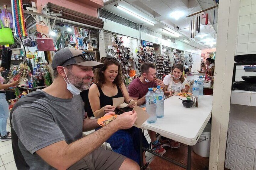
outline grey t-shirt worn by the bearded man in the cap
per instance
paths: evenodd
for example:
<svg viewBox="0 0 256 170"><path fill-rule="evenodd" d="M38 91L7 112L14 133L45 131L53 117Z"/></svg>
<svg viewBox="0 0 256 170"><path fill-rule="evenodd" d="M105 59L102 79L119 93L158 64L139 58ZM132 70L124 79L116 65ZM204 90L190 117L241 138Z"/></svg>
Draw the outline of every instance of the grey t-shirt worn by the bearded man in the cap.
<svg viewBox="0 0 256 170"><path fill-rule="evenodd" d="M18 147L29 169L55 169L36 151L59 141L70 144L82 138L85 116L82 98L75 95L72 99L61 99L39 89L30 94L40 97L32 104L18 106L11 115L13 129L19 138ZM22 102L26 103L30 94Z"/></svg>

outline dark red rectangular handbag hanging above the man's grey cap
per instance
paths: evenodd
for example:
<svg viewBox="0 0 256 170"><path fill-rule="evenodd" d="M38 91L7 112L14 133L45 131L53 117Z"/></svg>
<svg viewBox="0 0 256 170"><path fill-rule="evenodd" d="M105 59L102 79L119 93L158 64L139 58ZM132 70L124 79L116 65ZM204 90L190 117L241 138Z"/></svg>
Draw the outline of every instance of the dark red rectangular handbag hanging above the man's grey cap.
<svg viewBox="0 0 256 170"><path fill-rule="evenodd" d="M42 36L46 36L46 35L42 35ZM55 47L53 44L53 39L52 38L43 38L41 36L41 38L37 38L37 48L38 51L55 51Z"/></svg>

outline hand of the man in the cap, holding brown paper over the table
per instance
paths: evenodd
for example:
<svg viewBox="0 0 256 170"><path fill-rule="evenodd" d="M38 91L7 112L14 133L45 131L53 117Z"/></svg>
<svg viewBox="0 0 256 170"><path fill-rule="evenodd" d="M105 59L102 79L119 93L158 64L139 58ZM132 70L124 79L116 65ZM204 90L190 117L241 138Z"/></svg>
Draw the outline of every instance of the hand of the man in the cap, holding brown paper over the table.
<svg viewBox="0 0 256 170"><path fill-rule="evenodd" d="M138 117L136 111L130 111L118 115L113 122L117 123L117 127L119 127L119 129L128 129L133 126L137 119Z"/></svg>

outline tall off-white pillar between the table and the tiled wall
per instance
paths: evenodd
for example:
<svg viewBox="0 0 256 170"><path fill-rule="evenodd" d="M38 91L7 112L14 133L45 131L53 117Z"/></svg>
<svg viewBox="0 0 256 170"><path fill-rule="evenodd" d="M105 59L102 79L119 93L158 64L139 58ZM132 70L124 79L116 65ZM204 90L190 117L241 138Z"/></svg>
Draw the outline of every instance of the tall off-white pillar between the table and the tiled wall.
<svg viewBox="0 0 256 170"><path fill-rule="evenodd" d="M224 169L240 0L219 2L209 169Z"/></svg>

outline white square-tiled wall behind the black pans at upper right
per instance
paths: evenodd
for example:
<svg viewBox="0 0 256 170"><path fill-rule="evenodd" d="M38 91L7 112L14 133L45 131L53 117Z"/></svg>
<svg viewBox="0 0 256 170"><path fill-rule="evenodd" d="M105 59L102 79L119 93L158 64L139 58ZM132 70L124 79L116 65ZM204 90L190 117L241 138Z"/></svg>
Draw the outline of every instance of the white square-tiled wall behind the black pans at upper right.
<svg viewBox="0 0 256 170"><path fill-rule="evenodd" d="M237 29L235 55L256 54L256 0L241 0ZM256 76L255 72L245 72L236 67L235 81L243 81L241 76Z"/></svg>

